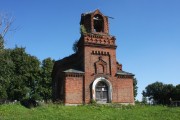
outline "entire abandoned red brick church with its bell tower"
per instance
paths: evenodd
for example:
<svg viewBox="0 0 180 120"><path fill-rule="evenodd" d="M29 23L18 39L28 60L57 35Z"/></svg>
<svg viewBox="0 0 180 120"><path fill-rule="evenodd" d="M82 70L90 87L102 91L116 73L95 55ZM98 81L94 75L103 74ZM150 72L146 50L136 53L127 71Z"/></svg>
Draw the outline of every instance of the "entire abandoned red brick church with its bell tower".
<svg viewBox="0 0 180 120"><path fill-rule="evenodd" d="M83 13L76 53L54 64L53 100L64 104L134 104L134 75L116 60L116 38L99 10Z"/></svg>

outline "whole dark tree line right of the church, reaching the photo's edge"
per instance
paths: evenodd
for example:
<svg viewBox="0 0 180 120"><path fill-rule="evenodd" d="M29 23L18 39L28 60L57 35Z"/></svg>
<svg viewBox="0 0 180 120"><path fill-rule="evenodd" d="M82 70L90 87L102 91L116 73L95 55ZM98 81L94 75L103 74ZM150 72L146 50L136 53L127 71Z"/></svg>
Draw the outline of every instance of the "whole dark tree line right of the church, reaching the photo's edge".
<svg viewBox="0 0 180 120"><path fill-rule="evenodd" d="M180 101L180 84L164 84L155 82L146 86L142 92L143 101L148 98L153 104L169 105L172 101Z"/></svg>

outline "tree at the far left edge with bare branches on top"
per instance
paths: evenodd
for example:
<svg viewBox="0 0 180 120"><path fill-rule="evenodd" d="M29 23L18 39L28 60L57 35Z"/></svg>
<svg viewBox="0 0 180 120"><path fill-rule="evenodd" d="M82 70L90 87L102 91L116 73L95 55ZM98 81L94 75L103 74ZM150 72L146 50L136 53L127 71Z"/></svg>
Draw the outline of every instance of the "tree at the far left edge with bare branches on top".
<svg viewBox="0 0 180 120"><path fill-rule="evenodd" d="M7 99L7 88L13 77L14 63L11 60L11 50L4 50L4 37L10 30L13 18L0 12L0 98Z"/></svg>

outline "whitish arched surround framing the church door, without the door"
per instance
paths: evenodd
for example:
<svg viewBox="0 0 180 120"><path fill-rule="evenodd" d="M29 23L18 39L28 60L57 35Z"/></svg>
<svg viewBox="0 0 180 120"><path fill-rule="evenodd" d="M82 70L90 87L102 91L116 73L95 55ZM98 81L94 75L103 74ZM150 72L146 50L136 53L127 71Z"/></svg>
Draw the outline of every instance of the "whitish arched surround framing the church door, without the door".
<svg viewBox="0 0 180 120"><path fill-rule="evenodd" d="M106 85L108 86L108 102L110 103L112 101L112 84L104 77L99 77L94 80L92 84L92 99L96 100L96 85L100 81L106 83Z"/></svg>

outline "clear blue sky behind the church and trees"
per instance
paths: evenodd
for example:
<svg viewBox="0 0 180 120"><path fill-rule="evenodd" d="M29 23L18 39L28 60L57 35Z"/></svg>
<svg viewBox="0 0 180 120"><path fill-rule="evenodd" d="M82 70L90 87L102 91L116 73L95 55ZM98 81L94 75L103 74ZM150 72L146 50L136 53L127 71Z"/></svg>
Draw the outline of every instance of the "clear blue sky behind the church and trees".
<svg viewBox="0 0 180 120"><path fill-rule="evenodd" d="M0 0L14 17L6 48L26 47L39 60L73 53L81 13L99 9L116 37L117 60L138 80L137 99L156 81L180 84L180 0Z"/></svg>

